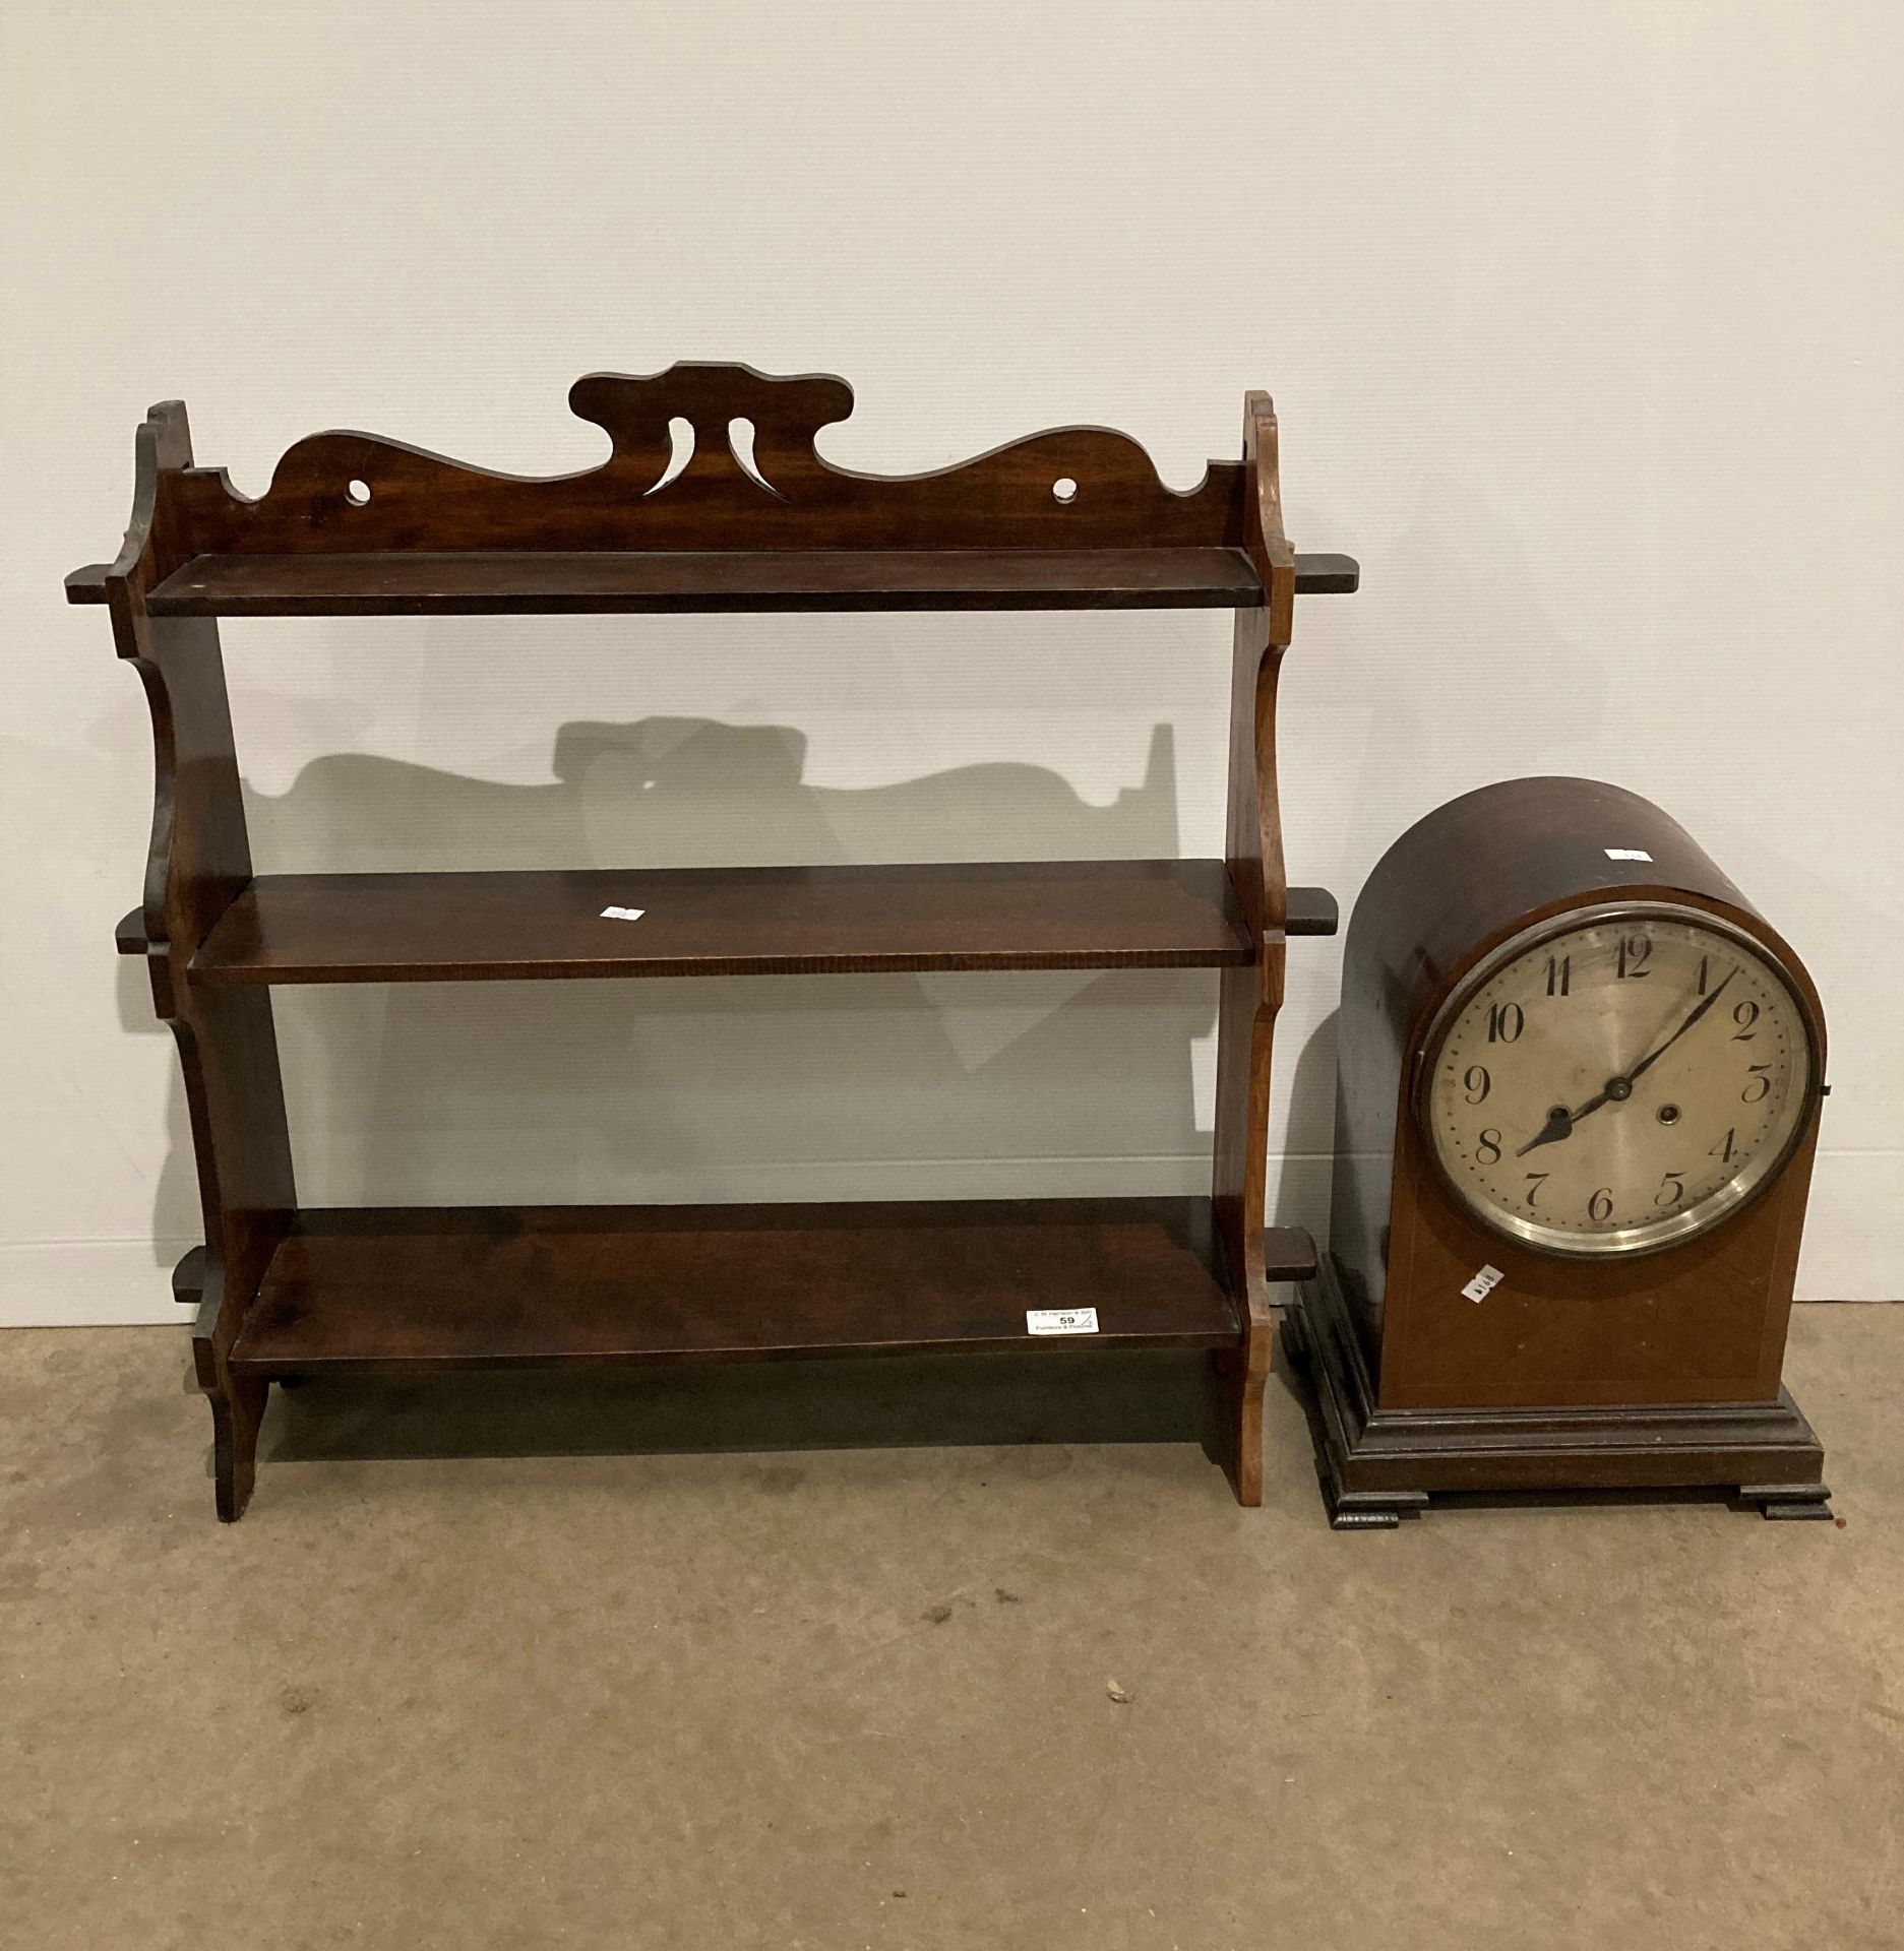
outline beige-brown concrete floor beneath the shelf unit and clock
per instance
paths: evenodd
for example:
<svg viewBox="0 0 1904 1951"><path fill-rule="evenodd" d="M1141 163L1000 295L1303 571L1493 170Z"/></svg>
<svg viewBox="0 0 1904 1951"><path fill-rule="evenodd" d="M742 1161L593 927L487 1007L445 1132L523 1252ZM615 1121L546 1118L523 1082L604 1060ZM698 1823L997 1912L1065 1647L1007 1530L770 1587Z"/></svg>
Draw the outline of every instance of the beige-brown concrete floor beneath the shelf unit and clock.
<svg viewBox="0 0 1904 1951"><path fill-rule="evenodd" d="M226 1530L181 1333L0 1336L0 1943L1904 1943L1904 1307L1793 1327L1842 1528L942 1374L273 1391Z"/></svg>

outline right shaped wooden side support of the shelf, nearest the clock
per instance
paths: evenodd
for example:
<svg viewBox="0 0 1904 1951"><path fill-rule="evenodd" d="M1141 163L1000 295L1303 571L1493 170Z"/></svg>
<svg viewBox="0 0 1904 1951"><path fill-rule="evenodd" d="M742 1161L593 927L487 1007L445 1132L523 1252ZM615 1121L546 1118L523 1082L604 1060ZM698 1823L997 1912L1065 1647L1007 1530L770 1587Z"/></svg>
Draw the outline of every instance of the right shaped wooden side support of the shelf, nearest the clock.
<svg viewBox="0 0 1904 1951"><path fill-rule="evenodd" d="M1282 527L1276 412L1266 392L1243 404L1249 472L1245 542L1264 603L1237 613L1229 698L1225 860L1256 958L1223 970L1217 1001L1217 1096L1211 1198L1241 1346L1215 1358L1225 1467L1239 1504L1262 1502L1262 1391L1274 1313L1264 1270L1270 1046L1284 991L1289 888L1276 804L1276 673L1295 618L1295 550Z"/></svg>

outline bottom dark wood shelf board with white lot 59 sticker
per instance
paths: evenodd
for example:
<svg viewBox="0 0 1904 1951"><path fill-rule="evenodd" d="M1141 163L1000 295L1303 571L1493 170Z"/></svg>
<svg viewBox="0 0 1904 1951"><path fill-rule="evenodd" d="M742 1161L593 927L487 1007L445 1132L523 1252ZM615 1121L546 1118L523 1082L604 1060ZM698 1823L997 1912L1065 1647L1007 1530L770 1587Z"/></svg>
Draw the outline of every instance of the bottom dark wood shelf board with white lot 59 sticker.
<svg viewBox="0 0 1904 1951"><path fill-rule="evenodd" d="M1094 1307L1096 1334L1028 1309ZM1229 1348L1208 1198L456 1206L297 1215L252 1375L1005 1348Z"/></svg>

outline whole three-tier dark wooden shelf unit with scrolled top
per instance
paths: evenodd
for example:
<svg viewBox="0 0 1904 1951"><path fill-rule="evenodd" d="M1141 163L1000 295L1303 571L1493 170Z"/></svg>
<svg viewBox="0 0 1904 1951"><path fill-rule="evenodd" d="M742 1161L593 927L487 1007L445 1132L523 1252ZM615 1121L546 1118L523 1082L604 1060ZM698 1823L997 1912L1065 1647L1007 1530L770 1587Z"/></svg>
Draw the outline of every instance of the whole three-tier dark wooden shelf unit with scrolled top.
<svg viewBox="0 0 1904 1951"><path fill-rule="evenodd" d="M1260 1502L1268 1284L1313 1268L1307 1235L1264 1229L1270 1030L1286 936L1336 925L1284 880L1276 671L1297 593L1356 587L1350 558L1284 537L1268 396L1247 398L1243 458L1190 494L1096 427L845 472L815 437L853 392L823 375L595 373L570 404L613 443L583 474L320 433L256 501L193 466L181 404L156 406L123 550L66 579L111 613L152 712L152 847L119 950L144 958L185 1077L205 1245L174 1294L197 1303L218 1516L252 1493L273 1379L1007 1348L1208 1350L1225 1467ZM1172 607L1237 613L1221 860L252 870L220 617ZM1210 1198L298 1204L279 983L1091 968L1219 972ZM1087 1307L1092 1334L1028 1333Z"/></svg>

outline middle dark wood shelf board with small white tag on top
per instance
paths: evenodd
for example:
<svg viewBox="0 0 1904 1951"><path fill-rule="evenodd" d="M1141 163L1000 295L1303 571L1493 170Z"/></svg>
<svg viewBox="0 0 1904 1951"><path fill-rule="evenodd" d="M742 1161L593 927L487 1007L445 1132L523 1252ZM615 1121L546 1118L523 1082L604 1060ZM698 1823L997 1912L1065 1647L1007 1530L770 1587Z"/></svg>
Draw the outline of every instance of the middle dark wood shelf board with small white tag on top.
<svg viewBox="0 0 1904 1951"><path fill-rule="evenodd" d="M1289 907L1289 933L1332 933L1321 890L1291 890ZM1252 954L1221 860L263 874L191 979L1225 968Z"/></svg>

